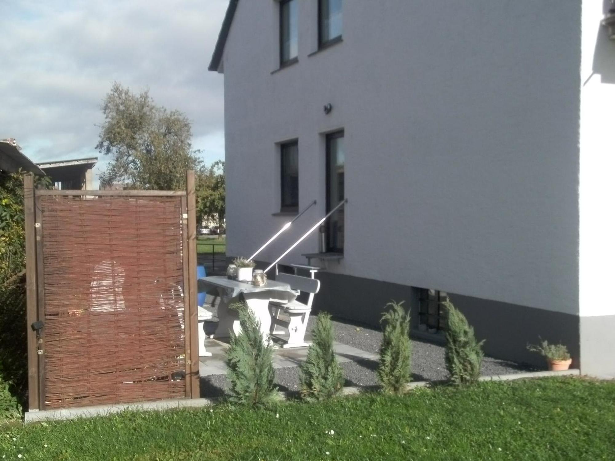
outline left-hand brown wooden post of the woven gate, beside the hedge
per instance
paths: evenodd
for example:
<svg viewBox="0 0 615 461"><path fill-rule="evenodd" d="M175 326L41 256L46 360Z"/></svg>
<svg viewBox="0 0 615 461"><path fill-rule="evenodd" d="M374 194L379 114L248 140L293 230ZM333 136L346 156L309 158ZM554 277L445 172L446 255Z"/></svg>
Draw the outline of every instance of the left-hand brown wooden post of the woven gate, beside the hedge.
<svg viewBox="0 0 615 461"><path fill-rule="evenodd" d="M36 280L36 222L34 215L34 176L23 176L23 211L26 231L26 329L28 337L28 411L38 410L39 360L36 333L31 325L38 320L38 297Z"/></svg>

